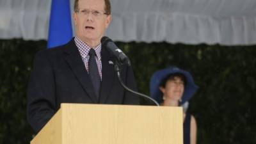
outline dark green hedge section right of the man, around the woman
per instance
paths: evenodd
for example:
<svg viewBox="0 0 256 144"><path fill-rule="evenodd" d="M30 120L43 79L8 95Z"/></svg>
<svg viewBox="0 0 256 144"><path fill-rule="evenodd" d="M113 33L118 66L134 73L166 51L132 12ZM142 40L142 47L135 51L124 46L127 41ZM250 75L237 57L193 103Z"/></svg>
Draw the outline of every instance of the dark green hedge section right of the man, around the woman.
<svg viewBox="0 0 256 144"><path fill-rule="evenodd" d="M198 143L256 143L255 46L123 44L140 92L149 94L154 71L176 65L200 86L189 112L198 125Z"/></svg>

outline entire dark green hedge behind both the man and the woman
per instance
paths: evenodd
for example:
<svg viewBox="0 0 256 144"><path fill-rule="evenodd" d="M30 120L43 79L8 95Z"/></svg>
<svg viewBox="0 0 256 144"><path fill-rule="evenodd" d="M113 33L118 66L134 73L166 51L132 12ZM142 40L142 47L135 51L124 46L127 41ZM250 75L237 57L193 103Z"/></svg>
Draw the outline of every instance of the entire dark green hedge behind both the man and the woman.
<svg viewBox="0 0 256 144"><path fill-rule="evenodd" d="M177 65L200 86L189 112L198 143L256 143L255 46L116 43L132 61L139 92L148 94L154 71ZM33 56L45 41L0 40L0 143L29 143L26 86ZM146 100L142 100L147 104Z"/></svg>

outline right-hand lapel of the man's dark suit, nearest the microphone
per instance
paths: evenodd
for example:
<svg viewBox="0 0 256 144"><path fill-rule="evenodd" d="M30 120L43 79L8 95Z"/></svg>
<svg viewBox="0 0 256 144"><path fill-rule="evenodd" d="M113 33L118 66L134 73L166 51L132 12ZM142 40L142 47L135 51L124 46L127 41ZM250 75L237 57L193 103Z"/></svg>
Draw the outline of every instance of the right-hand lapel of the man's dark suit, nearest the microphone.
<svg viewBox="0 0 256 144"><path fill-rule="evenodd" d="M113 81L115 76L115 69L113 63L115 62L113 58L109 56L106 48L102 47L101 50L101 58L102 58L102 83L100 88L100 104L106 102L109 93L113 87Z"/></svg>

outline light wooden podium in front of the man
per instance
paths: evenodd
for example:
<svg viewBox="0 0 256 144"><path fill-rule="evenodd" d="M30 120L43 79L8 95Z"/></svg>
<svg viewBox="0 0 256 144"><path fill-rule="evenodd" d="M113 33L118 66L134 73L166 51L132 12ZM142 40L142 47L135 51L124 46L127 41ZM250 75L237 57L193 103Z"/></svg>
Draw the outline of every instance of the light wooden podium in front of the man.
<svg viewBox="0 0 256 144"><path fill-rule="evenodd" d="M182 144L182 108L61 104L31 144Z"/></svg>

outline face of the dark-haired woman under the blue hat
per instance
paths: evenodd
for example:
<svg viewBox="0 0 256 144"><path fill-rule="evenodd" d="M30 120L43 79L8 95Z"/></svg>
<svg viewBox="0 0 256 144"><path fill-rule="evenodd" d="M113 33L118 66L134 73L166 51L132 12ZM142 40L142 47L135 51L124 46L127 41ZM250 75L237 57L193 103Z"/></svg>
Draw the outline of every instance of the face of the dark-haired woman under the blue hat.
<svg viewBox="0 0 256 144"><path fill-rule="evenodd" d="M165 87L160 87L165 99L180 100L184 92L184 81L179 76L166 81Z"/></svg>

